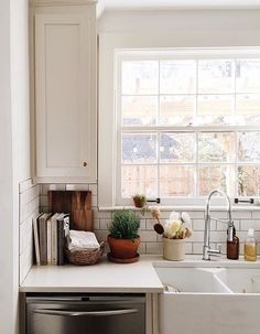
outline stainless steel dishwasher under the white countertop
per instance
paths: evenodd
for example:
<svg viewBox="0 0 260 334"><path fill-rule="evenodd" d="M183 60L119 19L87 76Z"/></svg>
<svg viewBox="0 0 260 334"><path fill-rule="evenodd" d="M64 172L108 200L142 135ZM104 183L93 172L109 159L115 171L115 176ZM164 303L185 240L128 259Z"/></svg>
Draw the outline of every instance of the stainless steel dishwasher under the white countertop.
<svg viewBox="0 0 260 334"><path fill-rule="evenodd" d="M26 334L94 333L145 334L145 295L26 295Z"/></svg>

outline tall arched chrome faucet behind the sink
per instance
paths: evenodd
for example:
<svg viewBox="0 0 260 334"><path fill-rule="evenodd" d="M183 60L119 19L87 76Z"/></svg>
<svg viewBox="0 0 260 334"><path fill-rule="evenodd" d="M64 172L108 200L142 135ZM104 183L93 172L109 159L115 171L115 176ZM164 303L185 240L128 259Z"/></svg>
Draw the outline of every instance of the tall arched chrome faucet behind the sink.
<svg viewBox="0 0 260 334"><path fill-rule="evenodd" d="M215 194L219 194L223 197L225 197L227 200L227 211L228 211L228 219L219 219L219 218L214 218L210 217L209 215L209 211L210 211L210 200L212 196ZM234 222L231 219L231 203L230 203L230 198L228 197L228 195L221 191L218 190L214 190L209 193L208 197L207 197L207 204L206 204L206 216L205 216L205 230L204 230L204 246L203 246L203 259L204 260L210 260L210 256L212 255L220 255L220 248L219 249L212 249L210 248L210 243L209 243L209 233L210 233L210 220L217 220L217 222L221 222L221 223L226 223L228 225L228 236L227 239L228 240L232 240L232 233L234 233Z"/></svg>

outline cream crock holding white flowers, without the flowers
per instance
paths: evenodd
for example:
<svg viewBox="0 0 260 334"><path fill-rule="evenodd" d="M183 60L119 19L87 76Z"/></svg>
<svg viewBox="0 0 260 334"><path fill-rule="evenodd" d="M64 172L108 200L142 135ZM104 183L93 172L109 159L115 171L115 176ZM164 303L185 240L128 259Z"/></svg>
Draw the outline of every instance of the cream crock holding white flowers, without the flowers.
<svg viewBox="0 0 260 334"><path fill-rule="evenodd" d="M163 238L163 258L170 261L184 260L185 240Z"/></svg>

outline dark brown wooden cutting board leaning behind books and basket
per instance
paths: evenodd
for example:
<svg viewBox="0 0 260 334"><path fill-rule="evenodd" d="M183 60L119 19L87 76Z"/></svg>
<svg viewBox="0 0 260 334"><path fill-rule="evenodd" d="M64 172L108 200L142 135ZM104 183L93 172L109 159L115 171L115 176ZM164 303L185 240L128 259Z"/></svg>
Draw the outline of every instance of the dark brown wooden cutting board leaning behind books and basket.
<svg viewBox="0 0 260 334"><path fill-rule="evenodd" d="M71 229L94 230L90 191L48 191L52 214L71 213Z"/></svg>

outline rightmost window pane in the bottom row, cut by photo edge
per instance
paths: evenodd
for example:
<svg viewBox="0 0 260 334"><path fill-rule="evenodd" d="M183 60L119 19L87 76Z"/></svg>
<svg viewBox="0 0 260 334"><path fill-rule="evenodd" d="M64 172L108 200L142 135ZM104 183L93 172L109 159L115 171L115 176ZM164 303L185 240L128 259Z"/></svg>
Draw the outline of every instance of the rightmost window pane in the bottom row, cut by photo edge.
<svg viewBox="0 0 260 334"><path fill-rule="evenodd" d="M238 168L238 195L260 195L260 166L242 165Z"/></svg>

